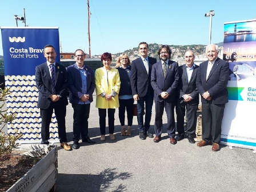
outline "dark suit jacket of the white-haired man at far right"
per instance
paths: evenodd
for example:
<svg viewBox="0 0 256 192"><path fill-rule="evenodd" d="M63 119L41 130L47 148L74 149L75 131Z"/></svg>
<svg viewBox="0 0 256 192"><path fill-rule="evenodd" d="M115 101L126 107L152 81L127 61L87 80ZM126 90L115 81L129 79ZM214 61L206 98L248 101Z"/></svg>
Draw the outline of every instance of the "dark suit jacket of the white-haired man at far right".
<svg viewBox="0 0 256 192"><path fill-rule="evenodd" d="M206 80L208 61L202 62L197 72L197 89L202 95L208 91L211 100L201 98L202 103L224 104L229 102L227 98L227 82L229 81L229 63L217 58L209 77Z"/></svg>

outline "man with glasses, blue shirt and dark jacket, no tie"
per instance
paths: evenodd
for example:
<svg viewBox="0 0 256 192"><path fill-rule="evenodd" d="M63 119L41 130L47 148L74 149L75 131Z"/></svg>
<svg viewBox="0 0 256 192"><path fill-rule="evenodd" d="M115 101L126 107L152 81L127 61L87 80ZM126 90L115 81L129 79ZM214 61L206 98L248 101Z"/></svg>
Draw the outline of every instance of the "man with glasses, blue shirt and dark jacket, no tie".
<svg viewBox="0 0 256 192"><path fill-rule="evenodd" d="M73 114L73 149L79 148L80 135L82 142L95 143L88 137L88 118L90 105L93 102L95 78L91 67L85 66L85 53L78 49L74 54L75 63L67 67L69 79L69 102L74 109Z"/></svg>

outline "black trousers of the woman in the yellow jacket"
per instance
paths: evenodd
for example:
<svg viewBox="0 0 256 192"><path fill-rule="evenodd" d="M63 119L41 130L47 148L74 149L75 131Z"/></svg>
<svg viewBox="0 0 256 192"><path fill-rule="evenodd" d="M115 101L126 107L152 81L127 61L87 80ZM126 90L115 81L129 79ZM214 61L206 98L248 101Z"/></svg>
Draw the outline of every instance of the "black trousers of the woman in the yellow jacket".
<svg viewBox="0 0 256 192"><path fill-rule="evenodd" d="M101 135L106 135L106 116L109 117L109 134L114 133L115 109L101 109L99 108L99 129Z"/></svg>

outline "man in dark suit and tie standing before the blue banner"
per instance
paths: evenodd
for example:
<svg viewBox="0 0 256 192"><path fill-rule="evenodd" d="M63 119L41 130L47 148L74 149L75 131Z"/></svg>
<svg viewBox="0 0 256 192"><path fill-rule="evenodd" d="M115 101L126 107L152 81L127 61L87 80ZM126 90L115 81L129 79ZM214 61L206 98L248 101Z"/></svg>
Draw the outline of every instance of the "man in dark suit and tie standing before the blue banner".
<svg viewBox="0 0 256 192"><path fill-rule="evenodd" d="M57 56L52 45L46 45L43 51L46 62L35 67L35 82L39 91L38 104L42 118L41 137L43 144L49 144L49 126L53 109L58 122L58 134L61 146L69 151L66 138L67 71L55 62Z"/></svg>

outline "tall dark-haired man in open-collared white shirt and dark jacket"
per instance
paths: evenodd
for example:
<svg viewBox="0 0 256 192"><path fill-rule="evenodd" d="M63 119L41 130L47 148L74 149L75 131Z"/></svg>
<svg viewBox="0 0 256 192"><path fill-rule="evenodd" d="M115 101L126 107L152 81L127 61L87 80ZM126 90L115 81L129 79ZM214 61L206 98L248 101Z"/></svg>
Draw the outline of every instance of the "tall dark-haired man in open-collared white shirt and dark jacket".
<svg viewBox="0 0 256 192"><path fill-rule="evenodd" d="M148 57L147 53L149 53L149 45L146 42L139 43L139 54L141 54L141 57L131 62L131 92L134 100L137 101L140 139L146 139L146 137L153 138L153 134L149 132L154 102L154 90L150 83L150 74L152 65L157 62L157 59ZM143 123L144 104L146 106L145 124Z"/></svg>

